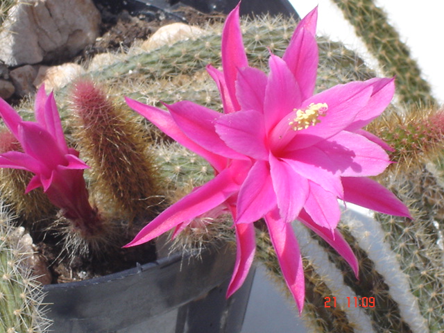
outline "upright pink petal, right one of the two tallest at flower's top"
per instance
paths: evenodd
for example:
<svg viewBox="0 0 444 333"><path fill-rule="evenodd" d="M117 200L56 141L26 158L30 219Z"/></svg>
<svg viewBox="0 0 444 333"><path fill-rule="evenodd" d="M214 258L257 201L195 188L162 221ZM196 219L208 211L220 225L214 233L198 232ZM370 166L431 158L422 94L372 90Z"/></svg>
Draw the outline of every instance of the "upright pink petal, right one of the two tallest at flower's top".
<svg viewBox="0 0 444 333"><path fill-rule="evenodd" d="M318 8L311 10L296 26L290 44L282 59L298 81L302 100L308 99L316 86L318 70L318 44L316 43L316 21Z"/></svg>

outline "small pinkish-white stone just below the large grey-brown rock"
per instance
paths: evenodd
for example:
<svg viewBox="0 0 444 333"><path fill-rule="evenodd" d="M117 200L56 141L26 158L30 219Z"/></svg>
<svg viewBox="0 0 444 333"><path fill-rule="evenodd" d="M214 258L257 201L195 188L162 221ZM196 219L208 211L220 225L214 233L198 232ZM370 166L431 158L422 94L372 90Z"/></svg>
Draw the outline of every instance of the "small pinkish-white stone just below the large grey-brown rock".
<svg viewBox="0 0 444 333"><path fill-rule="evenodd" d="M51 67L40 66L33 85L38 88L44 83L46 92L51 92L51 90L67 85L83 74L85 74L85 69L73 62Z"/></svg>

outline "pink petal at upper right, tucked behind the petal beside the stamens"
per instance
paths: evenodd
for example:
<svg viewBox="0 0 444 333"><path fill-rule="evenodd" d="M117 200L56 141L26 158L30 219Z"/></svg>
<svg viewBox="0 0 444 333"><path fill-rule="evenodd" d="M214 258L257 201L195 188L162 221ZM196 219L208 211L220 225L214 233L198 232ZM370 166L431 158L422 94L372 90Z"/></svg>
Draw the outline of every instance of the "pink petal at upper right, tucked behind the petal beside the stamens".
<svg viewBox="0 0 444 333"><path fill-rule="evenodd" d="M365 83L373 86L373 93L367 105L359 110L355 121L347 127L350 132L363 128L370 121L379 117L390 104L393 94L395 94L395 78L371 78L366 80Z"/></svg>

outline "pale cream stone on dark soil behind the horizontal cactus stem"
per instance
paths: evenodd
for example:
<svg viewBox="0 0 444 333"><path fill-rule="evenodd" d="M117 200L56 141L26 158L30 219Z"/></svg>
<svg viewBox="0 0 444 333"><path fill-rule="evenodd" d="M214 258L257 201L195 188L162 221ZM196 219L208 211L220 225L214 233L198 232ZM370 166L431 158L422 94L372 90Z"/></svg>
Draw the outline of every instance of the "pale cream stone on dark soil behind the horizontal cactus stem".
<svg viewBox="0 0 444 333"><path fill-rule="evenodd" d="M180 40L197 37L204 31L198 26L189 26L185 23L172 23L160 27L151 37L142 43L141 48L144 51L151 51L163 45L172 45Z"/></svg>

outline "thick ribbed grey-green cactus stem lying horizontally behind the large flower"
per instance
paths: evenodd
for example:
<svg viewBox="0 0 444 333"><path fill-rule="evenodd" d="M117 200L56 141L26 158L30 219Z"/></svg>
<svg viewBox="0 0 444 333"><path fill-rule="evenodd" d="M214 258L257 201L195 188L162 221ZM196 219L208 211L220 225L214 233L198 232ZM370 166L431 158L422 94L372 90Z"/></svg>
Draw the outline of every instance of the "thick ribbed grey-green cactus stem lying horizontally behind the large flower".
<svg viewBox="0 0 444 333"><path fill-rule="evenodd" d="M259 69L266 69L270 51L282 56L296 26L293 19L270 16L244 19L241 24L248 61ZM221 24L205 26L205 33L194 39L165 44L149 52L134 47L128 53L114 56L110 65L87 71L85 77L102 85L119 87L119 95L143 103L161 106L160 101L174 103L188 99L221 110L219 90L205 71L208 64L221 66L221 29ZM375 76L364 61L343 44L321 37L318 45L318 89ZM61 117L67 119L69 89L65 87L56 94ZM26 109L26 105L23 108ZM67 126L65 131L71 133L71 128Z"/></svg>

